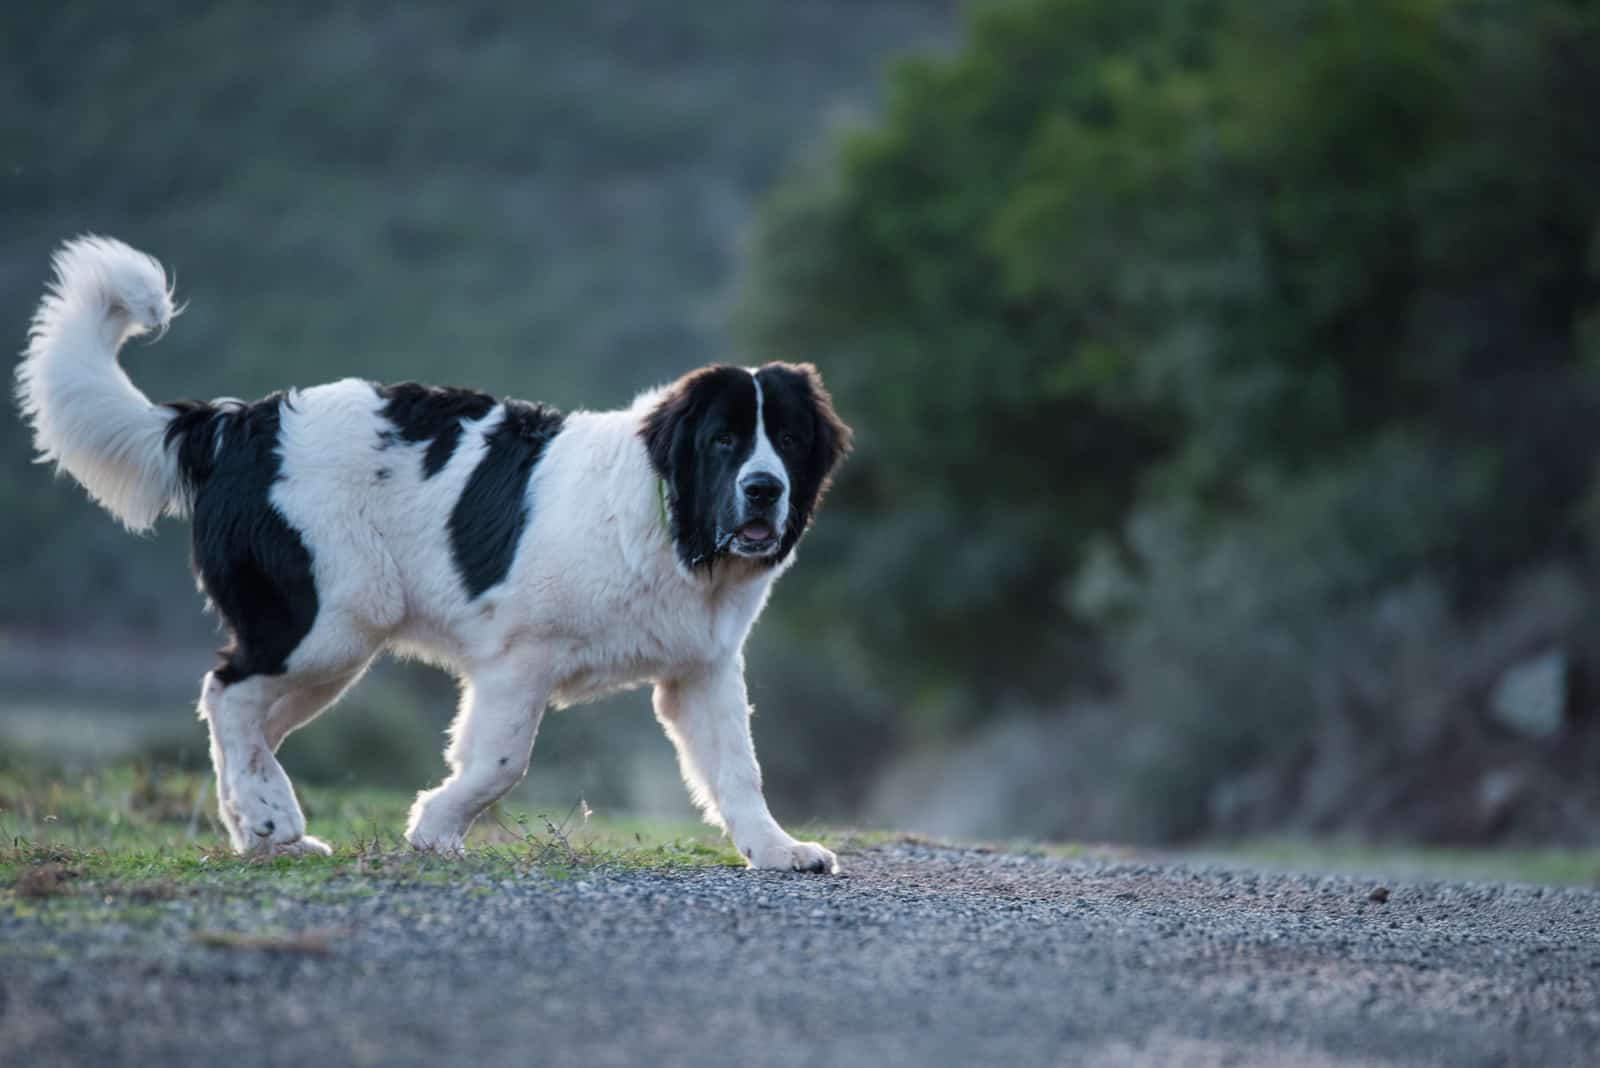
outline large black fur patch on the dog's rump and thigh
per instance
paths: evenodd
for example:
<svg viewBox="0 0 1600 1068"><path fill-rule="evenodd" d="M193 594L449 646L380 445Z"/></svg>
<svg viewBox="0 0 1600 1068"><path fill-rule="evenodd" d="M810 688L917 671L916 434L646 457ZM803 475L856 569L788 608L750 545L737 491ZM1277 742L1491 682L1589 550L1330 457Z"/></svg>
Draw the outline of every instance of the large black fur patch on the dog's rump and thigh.
<svg viewBox="0 0 1600 1068"><path fill-rule="evenodd" d="M221 649L224 686L282 675L317 620L310 552L269 494L282 476L278 430L290 398L253 404L168 404L166 441L194 507L190 560L234 641Z"/></svg>

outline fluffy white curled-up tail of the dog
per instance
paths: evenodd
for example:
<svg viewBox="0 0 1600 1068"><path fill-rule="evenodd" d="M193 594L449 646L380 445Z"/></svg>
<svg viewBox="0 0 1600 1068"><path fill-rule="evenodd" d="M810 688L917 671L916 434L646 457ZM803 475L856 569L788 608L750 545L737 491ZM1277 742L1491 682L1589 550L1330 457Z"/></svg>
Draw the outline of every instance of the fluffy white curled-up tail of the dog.
<svg viewBox="0 0 1600 1068"><path fill-rule="evenodd" d="M16 397L34 428L38 462L53 462L131 531L186 494L166 424L117 365L130 337L165 333L176 310L162 265L104 237L80 237L53 259L56 278L34 315L16 369Z"/></svg>

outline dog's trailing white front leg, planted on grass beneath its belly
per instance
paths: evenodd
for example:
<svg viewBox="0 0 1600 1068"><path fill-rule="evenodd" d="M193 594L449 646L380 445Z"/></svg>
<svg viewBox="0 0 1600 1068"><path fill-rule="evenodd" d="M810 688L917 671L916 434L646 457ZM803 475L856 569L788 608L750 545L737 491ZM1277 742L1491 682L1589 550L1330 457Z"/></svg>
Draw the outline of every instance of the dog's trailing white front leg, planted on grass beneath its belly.
<svg viewBox="0 0 1600 1068"><path fill-rule="evenodd" d="M451 774L416 796L405 831L408 843L440 852L461 849L478 814L528 772L547 697L549 686L514 667L478 671L467 679L445 750Z"/></svg>

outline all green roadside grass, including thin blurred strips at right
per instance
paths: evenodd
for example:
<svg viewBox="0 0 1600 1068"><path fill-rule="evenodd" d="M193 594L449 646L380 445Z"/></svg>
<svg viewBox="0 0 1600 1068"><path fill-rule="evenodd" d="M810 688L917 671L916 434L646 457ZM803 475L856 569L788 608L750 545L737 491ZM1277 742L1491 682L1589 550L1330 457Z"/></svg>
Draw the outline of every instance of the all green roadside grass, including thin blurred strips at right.
<svg viewBox="0 0 1600 1068"><path fill-rule="evenodd" d="M0 772L0 911L18 916L48 907L109 907L128 918L195 892L344 897L371 894L379 883L486 887L488 879L530 875L566 879L594 870L744 865L718 831L699 823L518 804L486 812L466 855L434 857L413 852L400 838L410 793L310 787L301 791L301 803L310 833L333 846L331 857L235 855L216 822L208 774L149 767L75 779ZM792 830L834 849L907 841L877 830ZM1149 857L1112 846L982 847L1058 859ZM1600 849L1438 849L1274 838L1200 846L1179 857L1378 878L1600 884Z"/></svg>

